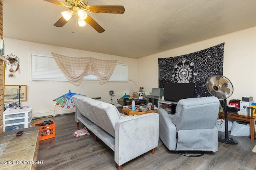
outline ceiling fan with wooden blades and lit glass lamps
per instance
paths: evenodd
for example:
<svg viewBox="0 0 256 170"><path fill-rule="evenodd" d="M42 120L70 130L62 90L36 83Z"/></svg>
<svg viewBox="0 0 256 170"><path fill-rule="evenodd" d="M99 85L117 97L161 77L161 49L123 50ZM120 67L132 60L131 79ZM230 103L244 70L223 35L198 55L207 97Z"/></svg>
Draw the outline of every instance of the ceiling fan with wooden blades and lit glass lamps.
<svg viewBox="0 0 256 170"><path fill-rule="evenodd" d="M93 5L88 6L87 0L65 0L65 3L58 0L44 0L56 5L67 7L69 10L62 12L62 17L54 23L56 27L63 27L74 15L77 16L78 25L80 27L91 25L96 31L102 33L105 31L96 21L94 21L86 12L90 13L112 13L124 14L123 6L116 5Z"/></svg>

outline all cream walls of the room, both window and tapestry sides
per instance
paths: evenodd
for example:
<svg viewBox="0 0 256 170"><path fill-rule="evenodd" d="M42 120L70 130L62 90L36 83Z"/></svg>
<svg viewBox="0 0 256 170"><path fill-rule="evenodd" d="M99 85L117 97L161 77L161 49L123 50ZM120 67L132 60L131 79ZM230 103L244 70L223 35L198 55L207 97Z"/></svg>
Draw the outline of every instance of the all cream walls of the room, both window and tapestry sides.
<svg viewBox="0 0 256 170"><path fill-rule="evenodd" d="M140 59L130 59L4 38L5 54L9 55L12 53L20 58L20 69L18 72L14 72L12 78L8 77L10 66L7 65L5 84L28 85L28 100L27 102L22 102L22 105L33 107L33 117L52 115L54 112L52 100L68 93L68 90L74 93L85 94L88 97L102 97L105 102L109 102L109 90L114 90L114 99L116 99L124 96L125 93L129 94L138 91L138 88L131 81L107 82L103 85L100 85L98 82L82 82L78 87L70 82L31 82L29 76L31 53L50 55L52 52L55 52L66 56L117 60L118 63L128 64L129 79L136 82L138 87L144 87L144 90L149 92L151 88L158 87L158 58L189 54L223 42L225 43L223 75L226 76L234 86L234 93L228 100L234 98L241 100L242 96L253 96L256 101L256 27ZM58 114L74 112L74 109L56 108Z"/></svg>

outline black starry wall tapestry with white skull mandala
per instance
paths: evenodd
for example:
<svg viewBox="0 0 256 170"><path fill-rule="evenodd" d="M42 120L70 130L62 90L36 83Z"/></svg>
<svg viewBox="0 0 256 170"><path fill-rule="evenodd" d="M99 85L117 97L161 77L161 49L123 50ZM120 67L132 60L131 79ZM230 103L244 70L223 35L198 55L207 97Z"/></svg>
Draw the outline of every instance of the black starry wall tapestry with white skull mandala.
<svg viewBox="0 0 256 170"><path fill-rule="evenodd" d="M210 76L223 75L224 43L177 57L158 58L159 88L164 83L195 83L195 96L211 96L206 89Z"/></svg>

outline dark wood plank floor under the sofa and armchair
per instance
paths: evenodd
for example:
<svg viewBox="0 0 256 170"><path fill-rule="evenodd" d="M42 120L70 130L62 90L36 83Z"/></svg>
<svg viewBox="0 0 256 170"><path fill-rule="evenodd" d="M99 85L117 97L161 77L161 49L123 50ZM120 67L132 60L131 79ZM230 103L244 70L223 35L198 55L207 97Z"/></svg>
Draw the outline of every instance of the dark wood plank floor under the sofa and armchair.
<svg viewBox="0 0 256 170"><path fill-rule="evenodd" d="M75 115L58 115L53 119L56 137L40 141L38 159L43 164L36 170L117 170L114 152L102 141L94 142L93 135L74 137ZM38 121L35 121L38 122ZM125 163L122 170L255 170L256 142L250 137L235 137L237 145L218 143L217 152L206 152L201 157L187 157L169 151L159 140L155 154L150 151ZM129 146L127 146L129 147Z"/></svg>

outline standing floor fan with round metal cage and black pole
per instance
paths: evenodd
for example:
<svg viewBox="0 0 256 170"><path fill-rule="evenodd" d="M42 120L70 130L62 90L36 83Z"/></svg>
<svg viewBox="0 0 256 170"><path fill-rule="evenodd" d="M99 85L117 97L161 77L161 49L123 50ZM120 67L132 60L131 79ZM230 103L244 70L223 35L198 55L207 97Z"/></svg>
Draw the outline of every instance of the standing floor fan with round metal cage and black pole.
<svg viewBox="0 0 256 170"><path fill-rule="evenodd" d="M224 100L224 120L225 120L225 136L219 135L218 141L226 144L238 144L238 141L232 137L228 137L228 110L227 98L233 94L233 85L228 78L222 75L215 75L208 78L206 88L212 96L216 96L220 100Z"/></svg>

